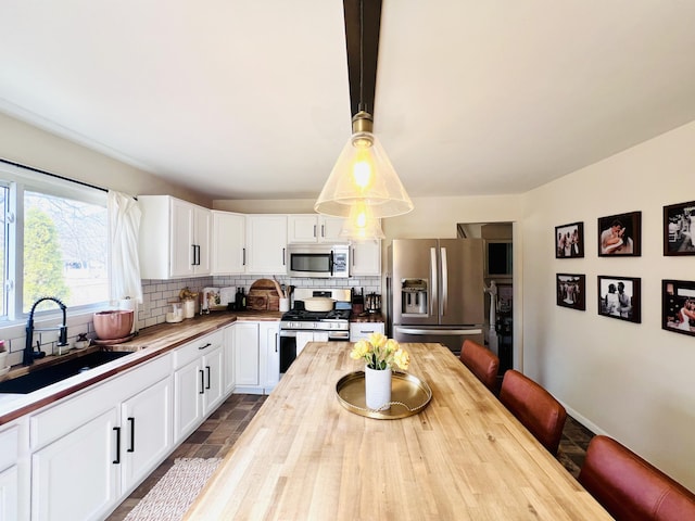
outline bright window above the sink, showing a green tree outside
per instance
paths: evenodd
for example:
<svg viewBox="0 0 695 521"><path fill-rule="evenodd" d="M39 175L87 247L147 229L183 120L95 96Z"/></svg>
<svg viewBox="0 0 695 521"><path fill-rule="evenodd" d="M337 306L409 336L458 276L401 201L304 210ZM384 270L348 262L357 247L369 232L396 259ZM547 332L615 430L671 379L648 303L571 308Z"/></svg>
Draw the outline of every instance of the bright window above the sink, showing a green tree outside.
<svg viewBox="0 0 695 521"><path fill-rule="evenodd" d="M5 269L0 316L23 319L42 296L73 309L106 302L106 193L0 164L1 187ZM36 310L43 305L55 308L46 302Z"/></svg>

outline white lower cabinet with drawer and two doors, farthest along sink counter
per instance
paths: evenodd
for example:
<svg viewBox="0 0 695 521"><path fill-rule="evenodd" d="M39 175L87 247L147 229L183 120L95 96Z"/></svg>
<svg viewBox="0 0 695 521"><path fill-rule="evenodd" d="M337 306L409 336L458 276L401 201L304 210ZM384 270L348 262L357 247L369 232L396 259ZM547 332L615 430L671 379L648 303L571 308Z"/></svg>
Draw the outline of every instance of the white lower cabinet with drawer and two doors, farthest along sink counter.
<svg viewBox="0 0 695 521"><path fill-rule="evenodd" d="M174 440L181 442L224 397L224 332L206 334L174 353Z"/></svg>

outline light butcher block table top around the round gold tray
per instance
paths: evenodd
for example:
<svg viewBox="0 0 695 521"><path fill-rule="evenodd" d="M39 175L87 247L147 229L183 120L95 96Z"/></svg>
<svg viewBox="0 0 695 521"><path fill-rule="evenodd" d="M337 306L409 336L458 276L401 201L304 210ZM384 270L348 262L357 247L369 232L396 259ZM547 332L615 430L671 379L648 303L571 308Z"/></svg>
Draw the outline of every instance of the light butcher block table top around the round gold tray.
<svg viewBox="0 0 695 521"><path fill-rule="evenodd" d="M312 342L185 519L612 519L447 348L403 345L432 389L422 412L346 410L336 382L363 364Z"/></svg>

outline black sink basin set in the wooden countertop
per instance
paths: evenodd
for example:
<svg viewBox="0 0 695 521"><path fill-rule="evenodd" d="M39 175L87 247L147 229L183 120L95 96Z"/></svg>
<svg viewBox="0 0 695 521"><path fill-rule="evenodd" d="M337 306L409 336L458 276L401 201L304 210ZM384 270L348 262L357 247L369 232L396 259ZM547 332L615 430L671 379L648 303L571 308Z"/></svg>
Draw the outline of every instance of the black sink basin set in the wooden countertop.
<svg viewBox="0 0 695 521"><path fill-rule="evenodd" d="M88 355L71 358L45 369L38 369L28 374L0 382L0 393L28 394L130 354L127 351L96 351Z"/></svg>

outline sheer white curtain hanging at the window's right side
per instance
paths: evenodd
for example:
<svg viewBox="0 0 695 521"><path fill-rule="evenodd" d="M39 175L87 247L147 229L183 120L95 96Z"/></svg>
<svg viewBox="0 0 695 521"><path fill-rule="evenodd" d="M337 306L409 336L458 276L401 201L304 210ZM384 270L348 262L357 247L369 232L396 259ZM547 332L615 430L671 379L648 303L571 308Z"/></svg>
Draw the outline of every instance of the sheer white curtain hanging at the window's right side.
<svg viewBox="0 0 695 521"><path fill-rule="evenodd" d="M109 190L111 300L142 304L138 233L142 212L130 195Z"/></svg>

